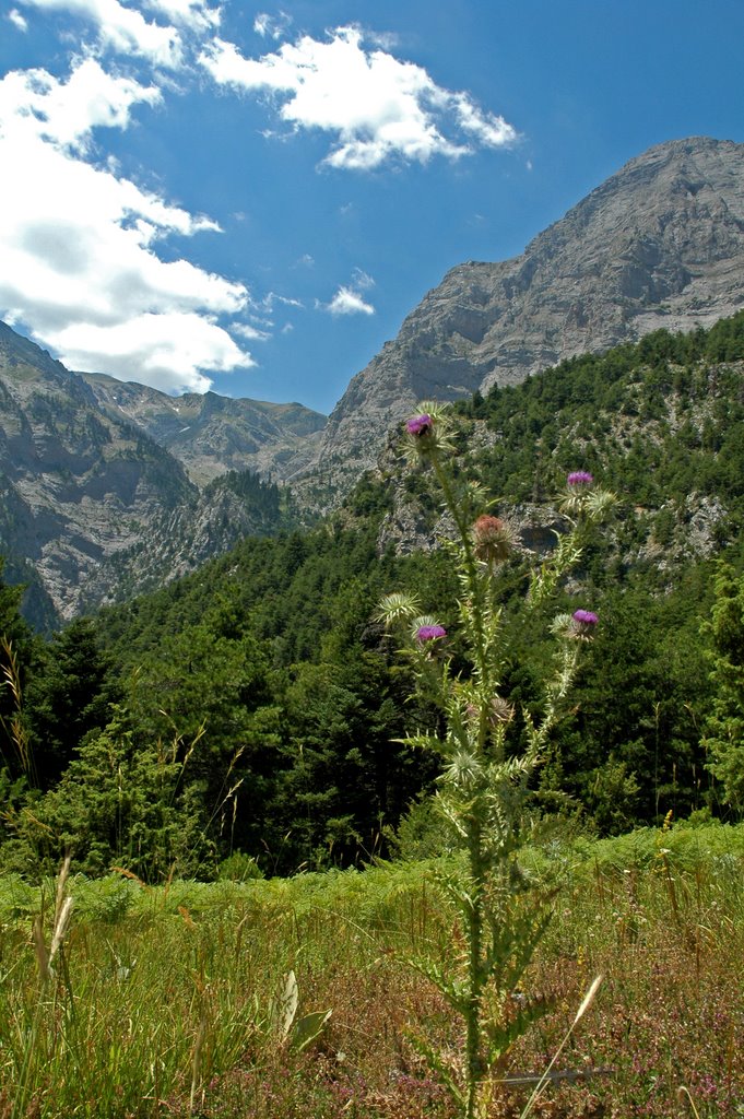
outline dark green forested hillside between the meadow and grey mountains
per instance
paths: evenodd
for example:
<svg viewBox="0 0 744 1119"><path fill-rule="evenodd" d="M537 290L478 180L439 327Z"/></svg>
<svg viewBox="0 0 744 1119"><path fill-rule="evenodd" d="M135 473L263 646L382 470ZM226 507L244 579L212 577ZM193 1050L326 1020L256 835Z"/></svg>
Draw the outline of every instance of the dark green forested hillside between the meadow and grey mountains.
<svg viewBox="0 0 744 1119"><path fill-rule="evenodd" d="M549 556L555 495L580 469L618 496L554 603L600 622L535 788L546 818L610 834L741 809L743 370L740 314L454 408L461 473L519 540L503 690L524 712L549 656L525 571L535 551ZM396 741L441 716L408 700L375 615L384 594L415 591L456 665L458 587L446 548L431 548L446 524L428 474L398 444L382 461L322 526L247 538L49 642L2 589L6 868L51 867L69 847L78 868L145 880L173 865L286 873L443 841L420 802L435 763ZM409 551L401 526L430 551ZM522 731L517 717L515 747Z"/></svg>

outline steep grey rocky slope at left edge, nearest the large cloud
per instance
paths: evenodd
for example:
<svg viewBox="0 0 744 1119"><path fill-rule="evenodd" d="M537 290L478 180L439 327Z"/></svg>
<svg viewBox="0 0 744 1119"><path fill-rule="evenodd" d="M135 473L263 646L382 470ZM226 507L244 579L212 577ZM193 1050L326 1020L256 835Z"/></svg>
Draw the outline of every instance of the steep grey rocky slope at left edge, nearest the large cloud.
<svg viewBox="0 0 744 1119"><path fill-rule="evenodd" d="M35 567L63 617L78 610L109 556L196 495L180 463L110 419L81 377L4 325L0 487L0 548Z"/></svg>

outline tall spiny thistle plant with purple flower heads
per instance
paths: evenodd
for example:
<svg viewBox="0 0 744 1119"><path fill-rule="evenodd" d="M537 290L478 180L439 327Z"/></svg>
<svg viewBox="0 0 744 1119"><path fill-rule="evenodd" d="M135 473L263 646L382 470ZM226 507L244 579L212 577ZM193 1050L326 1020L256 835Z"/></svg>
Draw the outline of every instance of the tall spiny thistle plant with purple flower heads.
<svg viewBox="0 0 744 1119"><path fill-rule="evenodd" d="M409 458L428 468L455 529L450 547L459 576L458 664L440 620L423 614L415 596L388 595L379 618L402 637L414 664L417 687L443 715L440 734L415 733L405 743L434 751L441 761L435 803L458 837L459 856L442 872L442 884L461 927L462 949L440 965L411 962L440 990L460 1018L464 1051L448 1057L423 1038L414 1043L448 1085L464 1119L483 1119L503 1078L509 1052L549 1009L549 1000L520 988L550 916L552 893L530 878L518 854L529 829L527 799L549 735L562 716L584 645L597 614L582 604L558 614L552 674L544 681L538 714L520 711L505 694L510 655L500 577L517 549L509 523L489 511L482 489L453 469L453 429L446 411L424 404L405 425ZM569 567L576 565L590 526L602 520L613 496L594 486L586 471L566 480L561 510L567 529L556 534L550 555L529 574L527 609L545 606Z"/></svg>

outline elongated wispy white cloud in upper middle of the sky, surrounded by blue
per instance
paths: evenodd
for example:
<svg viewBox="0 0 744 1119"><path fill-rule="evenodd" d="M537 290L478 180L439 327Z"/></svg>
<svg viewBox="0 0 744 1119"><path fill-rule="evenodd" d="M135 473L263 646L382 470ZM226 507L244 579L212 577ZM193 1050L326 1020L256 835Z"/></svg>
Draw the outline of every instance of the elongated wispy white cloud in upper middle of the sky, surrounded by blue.
<svg viewBox="0 0 744 1119"><path fill-rule="evenodd" d="M280 116L295 129L335 133L324 160L331 167L366 170L395 157L456 159L474 144L503 147L517 135L467 93L437 86L421 66L362 49L356 27L337 28L324 43L303 36L258 59L215 38L199 60L220 85L274 95Z"/></svg>

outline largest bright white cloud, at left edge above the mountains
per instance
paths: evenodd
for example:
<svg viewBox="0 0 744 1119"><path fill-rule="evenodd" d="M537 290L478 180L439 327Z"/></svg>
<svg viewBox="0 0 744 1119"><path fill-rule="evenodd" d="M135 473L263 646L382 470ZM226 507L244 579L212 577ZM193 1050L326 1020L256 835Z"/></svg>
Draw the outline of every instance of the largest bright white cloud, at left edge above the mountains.
<svg viewBox="0 0 744 1119"><path fill-rule="evenodd" d="M93 59L67 83L0 81L0 317L32 325L70 368L198 392L206 373L253 364L218 323L248 293L153 246L216 224L81 158L94 128L124 128L158 96Z"/></svg>

